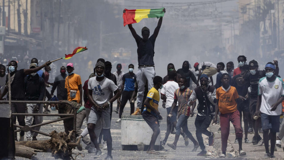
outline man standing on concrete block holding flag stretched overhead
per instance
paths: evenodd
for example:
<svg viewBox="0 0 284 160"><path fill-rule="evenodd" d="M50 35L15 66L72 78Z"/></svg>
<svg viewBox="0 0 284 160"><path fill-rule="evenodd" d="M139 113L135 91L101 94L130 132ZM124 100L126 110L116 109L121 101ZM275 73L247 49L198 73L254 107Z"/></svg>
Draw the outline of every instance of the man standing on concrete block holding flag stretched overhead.
<svg viewBox="0 0 284 160"><path fill-rule="evenodd" d="M166 13L166 9L163 9L163 12ZM123 10L125 13L125 10ZM141 114L144 85L146 80L148 81L148 89L153 88L153 78L155 77L155 68L154 68L154 46L155 41L158 36L159 30L162 25L163 17L159 18L158 25L156 26L152 36L150 36L150 30L147 27L143 27L141 30L142 38L136 33L135 29L132 27L132 24L128 24L128 28L131 31L132 36L134 37L137 44L137 54L138 54L138 71L137 71L137 83L138 83L138 95L137 95L137 108L135 114ZM149 37L150 36L150 37Z"/></svg>

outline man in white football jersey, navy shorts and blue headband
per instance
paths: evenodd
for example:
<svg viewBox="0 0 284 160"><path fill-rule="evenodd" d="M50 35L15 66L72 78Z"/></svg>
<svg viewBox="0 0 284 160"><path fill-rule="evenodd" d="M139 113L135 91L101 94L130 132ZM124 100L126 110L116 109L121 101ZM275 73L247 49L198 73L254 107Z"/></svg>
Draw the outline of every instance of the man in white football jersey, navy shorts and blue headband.
<svg viewBox="0 0 284 160"><path fill-rule="evenodd" d="M254 116L261 117L266 150L265 158L275 158L276 132L279 132L279 118L282 113L281 102L284 100L284 82L273 74L274 70L275 65L268 62L265 66L266 77L261 78L258 83L256 113L254 114Z"/></svg>

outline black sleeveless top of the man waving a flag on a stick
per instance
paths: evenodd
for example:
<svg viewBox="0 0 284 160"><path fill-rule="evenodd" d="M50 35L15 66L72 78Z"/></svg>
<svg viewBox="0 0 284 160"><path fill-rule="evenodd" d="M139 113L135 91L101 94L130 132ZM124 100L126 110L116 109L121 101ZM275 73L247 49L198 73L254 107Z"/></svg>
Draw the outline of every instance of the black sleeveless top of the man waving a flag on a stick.
<svg viewBox="0 0 284 160"><path fill-rule="evenodd" d="M14 74L15 74L14 80L11 83L11 98L12 99L25 99L24 78L26 76L24 74L24 69L17 70ZM7 82L8 82L8 76L6 78L6 84L7 84ZM7 98L8 98L8 96L7 96Z"/></svg>

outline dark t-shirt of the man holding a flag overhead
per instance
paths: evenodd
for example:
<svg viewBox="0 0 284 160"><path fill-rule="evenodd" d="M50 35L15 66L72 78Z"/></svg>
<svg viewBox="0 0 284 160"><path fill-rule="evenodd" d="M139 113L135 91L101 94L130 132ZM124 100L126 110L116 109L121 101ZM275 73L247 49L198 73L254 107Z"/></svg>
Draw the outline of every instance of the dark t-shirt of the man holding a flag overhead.
<svg viewBox="0 0 284 160"><path fill-rule="evenodd" d="M154 46L156 38L152 36L144 42L142 38L136 34L135 41L137 43L138 65L154 65Z"/></svg>

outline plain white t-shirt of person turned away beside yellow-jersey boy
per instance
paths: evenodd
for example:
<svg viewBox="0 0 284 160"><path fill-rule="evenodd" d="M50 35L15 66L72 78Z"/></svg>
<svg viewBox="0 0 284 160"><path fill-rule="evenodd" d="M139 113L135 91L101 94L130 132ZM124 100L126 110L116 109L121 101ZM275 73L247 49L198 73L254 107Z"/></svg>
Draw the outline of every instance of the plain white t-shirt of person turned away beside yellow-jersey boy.
<svg viewBox="0 0 284 160"><path fill-rule="evenodd" d="M167 81L167 83L163 85L163 88L161 89L161 94L165 95L167 98L166 108L172 106L174 102L175 91L178 88L178 83L176 83L175 81Z"/></svg>

